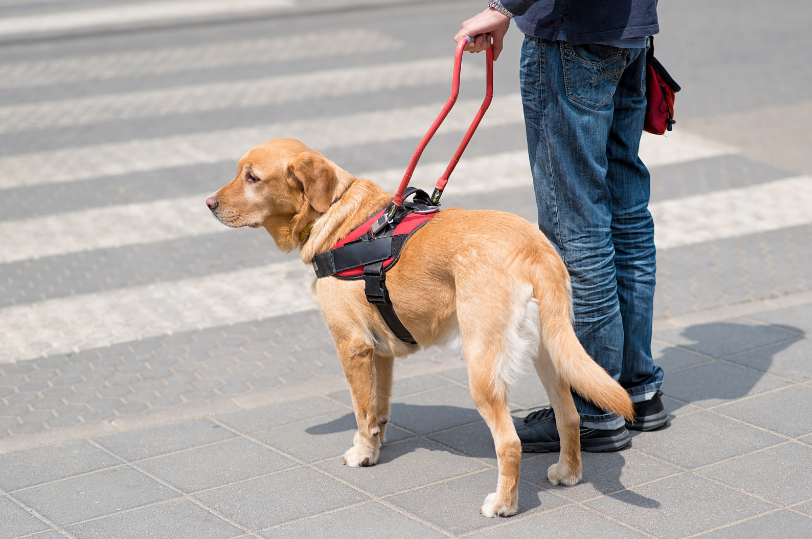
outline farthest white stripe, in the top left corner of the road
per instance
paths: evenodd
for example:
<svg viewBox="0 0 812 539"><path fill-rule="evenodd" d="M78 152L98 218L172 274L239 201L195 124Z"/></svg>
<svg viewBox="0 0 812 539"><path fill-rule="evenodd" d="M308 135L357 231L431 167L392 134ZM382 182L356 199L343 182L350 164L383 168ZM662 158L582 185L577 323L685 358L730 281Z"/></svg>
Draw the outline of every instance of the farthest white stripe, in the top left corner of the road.
<svg viewBox="0 0 812 539"><path fill-rule="evenodd" d="M212 15L255 13L293 7L293 0L174 0L144 4L122 4L93 9L40 13L0 19L0 36L42 32L64 32L99 26L117 27L133 23L195 19Z"/></svg>

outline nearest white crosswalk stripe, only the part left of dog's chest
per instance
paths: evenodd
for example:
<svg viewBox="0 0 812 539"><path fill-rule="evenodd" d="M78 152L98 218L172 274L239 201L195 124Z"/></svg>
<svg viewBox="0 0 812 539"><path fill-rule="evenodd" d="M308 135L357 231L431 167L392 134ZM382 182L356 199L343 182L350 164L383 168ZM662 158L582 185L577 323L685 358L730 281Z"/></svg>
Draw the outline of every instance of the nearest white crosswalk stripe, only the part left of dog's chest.
<svg viewBox="0 0 812 539"><path fill-rule="evenodd" d="M316 308L301 260L0 310L0 363Z"/></svg>

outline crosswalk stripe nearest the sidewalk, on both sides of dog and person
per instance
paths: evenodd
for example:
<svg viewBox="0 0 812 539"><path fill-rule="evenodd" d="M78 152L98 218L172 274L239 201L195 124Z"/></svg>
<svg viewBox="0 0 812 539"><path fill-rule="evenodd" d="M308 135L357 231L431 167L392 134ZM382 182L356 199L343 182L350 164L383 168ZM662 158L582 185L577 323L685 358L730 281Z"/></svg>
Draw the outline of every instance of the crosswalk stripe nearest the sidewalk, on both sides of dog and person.
<svg viewBox="0 0 812 539"><path fill-rule="evenodd" d="M198 203L203 207L202 199ZM661 250L812 224L812 178L778 180L650 208ZM315 308L309 299L312 279L310 268L295 260L7 307L0 309L0 327L7 335L0 342L0 363L309 310Z"/></svg>

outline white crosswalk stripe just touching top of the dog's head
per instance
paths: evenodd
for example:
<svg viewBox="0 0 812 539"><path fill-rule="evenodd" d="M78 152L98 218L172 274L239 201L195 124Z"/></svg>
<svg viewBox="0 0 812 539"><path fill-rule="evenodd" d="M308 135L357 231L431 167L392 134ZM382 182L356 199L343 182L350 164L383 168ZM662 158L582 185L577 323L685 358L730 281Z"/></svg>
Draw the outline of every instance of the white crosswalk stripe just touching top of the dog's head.
<svg viewBox="0 0 812 539"><path fill-rule="evenodd" d="M481 100L458 101L439 133L465 131ZM296 138L319 151L422 137L443 103L268 126L83 146L0 158L0 189L237 161L266 140ZM494 98L480 129L523 121L518 94ZM404 164L405 166L405 164Z"/></svg>

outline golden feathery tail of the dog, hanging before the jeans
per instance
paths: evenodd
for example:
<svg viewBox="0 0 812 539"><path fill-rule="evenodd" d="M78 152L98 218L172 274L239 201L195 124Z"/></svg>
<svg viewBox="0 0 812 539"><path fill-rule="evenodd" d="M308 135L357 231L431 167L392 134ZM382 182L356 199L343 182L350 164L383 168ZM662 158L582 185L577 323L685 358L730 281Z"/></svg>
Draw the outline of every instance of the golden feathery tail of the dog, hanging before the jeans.
<svg viewBox="0 0 812 539"><path fill-rule="evenodd" d="M563 266L563 264L562 264ZM572 327L572 288L569 277L553 283L536 278L534 293L541 315L541 342L558 375L586 400L627 420L634 417L629 394L589 357Z"/></svg>

